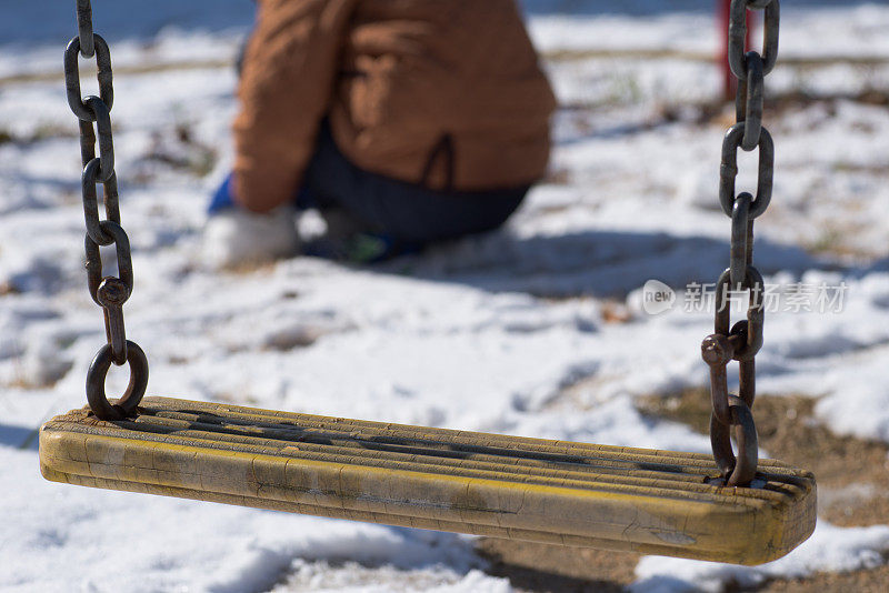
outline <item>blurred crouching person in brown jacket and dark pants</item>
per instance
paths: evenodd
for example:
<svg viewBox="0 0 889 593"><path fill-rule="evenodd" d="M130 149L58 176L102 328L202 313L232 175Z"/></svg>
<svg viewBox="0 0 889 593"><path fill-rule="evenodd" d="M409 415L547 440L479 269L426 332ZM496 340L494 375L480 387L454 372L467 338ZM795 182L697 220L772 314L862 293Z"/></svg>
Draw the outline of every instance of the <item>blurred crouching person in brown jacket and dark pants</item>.
<svg viewBox="0 0 889 593"><path fill-rule="evenodd" d="M556 104L515 0L260 0L238 97L204 231L223 267L298 253L306 209L316 254L359 262L496 229Z"/></svg>

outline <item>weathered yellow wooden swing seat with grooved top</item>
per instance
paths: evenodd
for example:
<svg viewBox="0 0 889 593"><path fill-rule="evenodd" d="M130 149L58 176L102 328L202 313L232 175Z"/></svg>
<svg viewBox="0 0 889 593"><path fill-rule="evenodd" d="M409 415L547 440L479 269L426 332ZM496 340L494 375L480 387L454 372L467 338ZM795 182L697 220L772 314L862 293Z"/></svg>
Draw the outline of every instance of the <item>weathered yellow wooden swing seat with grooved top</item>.
<svg viewBox="0 0 889 593"><path fill-rule="evenodd" d="M755 488L709 455L147 398L132 420L73 410L40 430L48 480L353 521L760 564L815 529L809 472Z"/></svg>

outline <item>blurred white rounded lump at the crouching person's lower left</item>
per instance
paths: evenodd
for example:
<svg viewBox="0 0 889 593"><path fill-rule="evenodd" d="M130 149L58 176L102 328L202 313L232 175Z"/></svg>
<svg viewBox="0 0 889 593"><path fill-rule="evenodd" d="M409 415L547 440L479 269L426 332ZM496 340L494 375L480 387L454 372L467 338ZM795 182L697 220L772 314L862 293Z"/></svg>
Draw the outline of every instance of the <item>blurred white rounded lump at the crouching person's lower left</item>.
<svg viewBox="0 0 889 593"><path fill-rule="evenodd" d="M219 270L296 255L300 249L296 215L290 207L263 214L236 208L213 214L203 228L201 259Z"/></svg>

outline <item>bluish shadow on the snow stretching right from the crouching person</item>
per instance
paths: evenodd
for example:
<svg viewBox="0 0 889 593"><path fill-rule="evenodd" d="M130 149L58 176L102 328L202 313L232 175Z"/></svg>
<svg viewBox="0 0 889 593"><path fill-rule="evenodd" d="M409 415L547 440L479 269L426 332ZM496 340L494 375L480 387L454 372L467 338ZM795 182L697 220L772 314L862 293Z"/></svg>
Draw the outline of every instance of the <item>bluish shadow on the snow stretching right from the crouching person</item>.
<svg viewBox="0 0 889 593"><path fill-rule="evenodd" d="M519 238L505 230L433 248L374 270L491 292L623 299L651 279L680 292L690 282L716 282L728 261L728 242L708 237L583 231ZM798 247L761 238L756 244L756 265L763 274L837 268Z"/></svg>

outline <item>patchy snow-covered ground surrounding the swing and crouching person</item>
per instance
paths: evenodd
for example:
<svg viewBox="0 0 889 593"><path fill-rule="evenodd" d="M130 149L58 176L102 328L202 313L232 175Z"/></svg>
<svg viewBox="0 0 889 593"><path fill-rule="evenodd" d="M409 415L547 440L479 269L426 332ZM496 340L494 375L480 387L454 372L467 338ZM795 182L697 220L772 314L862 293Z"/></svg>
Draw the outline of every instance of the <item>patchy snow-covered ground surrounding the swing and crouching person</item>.
<svg viewBox="0 0 889 593"><path fill-rule="evenodd" d="M42 481L34 431L84 403L104 340L82 271L77 128L58 78L72 2L47 4L0 1L12 14L0 24L0 589L510 591L467 537ZM695 58L717 43L711 2L526 2L563 108L552 181L503 231L371 270L298 258L226 274L198 254L204 203L231 158L234 76L220 64L250 4L123 4L93 2L117 68L137 282L127 325L149 354L149 393L708 451L705 436L643 416L635 401L707 379L699 345L711 315L687 310L681 291L715 282L728 260L716 198L728 119L693 107L719 86ZM785 4L782 57L872 63L782 66L769 89L889 88L889 7ZM767 316L760 392L819 398L818 418L837 433L889 441L889 111L839 99L783 107L767 124L777 173L756 261L788 294ZM751 185L755 161L740 164ZM643 311L650 279L680 291L671 311ZM842 287L842 302L826 313L788 304L821 285ZM610 321L616 310L626 322ZM109 389L126 382L112 372ZM889 552L887 523L821 523L759 569L646 557L633 591L871 567Z"/></svg>

